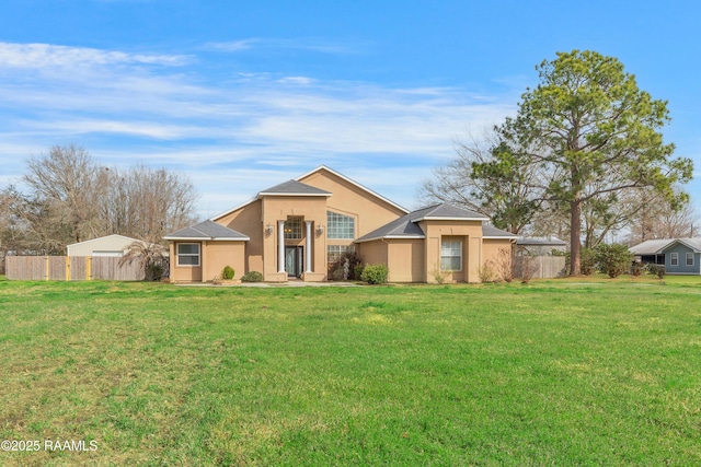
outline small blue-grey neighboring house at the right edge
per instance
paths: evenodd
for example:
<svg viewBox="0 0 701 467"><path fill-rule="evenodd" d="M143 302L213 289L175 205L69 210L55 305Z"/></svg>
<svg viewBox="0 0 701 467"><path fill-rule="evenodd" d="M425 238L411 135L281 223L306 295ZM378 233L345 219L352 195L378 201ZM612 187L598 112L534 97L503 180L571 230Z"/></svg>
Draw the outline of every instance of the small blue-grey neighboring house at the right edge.
<svg viewBox="0 0 701 467"><path fill-rule="evenodd" d="M650 240L629 249L642 262L665 265L669 275L701 275L701 238Z"/></svg>

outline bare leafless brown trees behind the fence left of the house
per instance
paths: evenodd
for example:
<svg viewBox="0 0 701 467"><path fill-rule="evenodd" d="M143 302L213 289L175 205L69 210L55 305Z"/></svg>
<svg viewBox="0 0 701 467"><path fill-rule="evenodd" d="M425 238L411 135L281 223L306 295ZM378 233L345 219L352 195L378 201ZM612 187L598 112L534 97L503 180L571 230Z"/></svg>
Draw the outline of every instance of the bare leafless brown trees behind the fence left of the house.
<svg viewBox="0 0 701 467"><path fill-rule="evenodd" d="M21 182L26 191L0 191L1 253L62 255L67 245L110 234L160 243L196 221L187 177L102 166L73 144L31 159Z"/></svg>

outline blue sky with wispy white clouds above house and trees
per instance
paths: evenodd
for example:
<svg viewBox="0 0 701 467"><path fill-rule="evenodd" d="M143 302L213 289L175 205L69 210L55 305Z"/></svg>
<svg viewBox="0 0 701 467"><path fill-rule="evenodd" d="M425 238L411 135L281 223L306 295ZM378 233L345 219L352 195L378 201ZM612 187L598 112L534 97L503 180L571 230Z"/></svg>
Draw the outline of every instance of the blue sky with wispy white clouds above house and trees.
<svg viewBox="0 0 701 467"><path fill-rule="evenodd" d="M668 101L665 138L701 174L700 21L675 0L3 0L0 187L76 143L186 174L203 218L320 164L416 208L455 141L572 49Z"/></svg>

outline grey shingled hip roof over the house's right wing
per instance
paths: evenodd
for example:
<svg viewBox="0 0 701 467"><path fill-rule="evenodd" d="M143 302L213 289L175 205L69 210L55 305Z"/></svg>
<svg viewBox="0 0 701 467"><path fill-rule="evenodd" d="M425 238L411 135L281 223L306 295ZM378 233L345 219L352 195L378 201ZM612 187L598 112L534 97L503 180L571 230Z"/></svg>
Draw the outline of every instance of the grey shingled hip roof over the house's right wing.
<svg viewBox="0 0 701 467"><path fill-rule="evenodd" d="M360 238L357 238L356 242L370 242L380 238L425 238L426 235L418 225L418 222L424 220L482 222L487 221L489 218L474 211L448 203L435 205L402 215L401 218L363 235ZM496 229L492 225L482 225L482 235L487 238L516 238L516 235L501 229Z"/></svg>

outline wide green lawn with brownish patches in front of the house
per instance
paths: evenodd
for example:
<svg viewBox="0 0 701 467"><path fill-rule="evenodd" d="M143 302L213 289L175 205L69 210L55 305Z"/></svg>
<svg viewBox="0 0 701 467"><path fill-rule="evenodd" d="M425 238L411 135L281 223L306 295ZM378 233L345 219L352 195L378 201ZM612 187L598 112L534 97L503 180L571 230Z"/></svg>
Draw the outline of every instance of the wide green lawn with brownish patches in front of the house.
<svg viewBox="0 0 701 467"><path fill-rule="evenodd" d="M0 465L699 465L701 278L0 281Z"/></svg>

